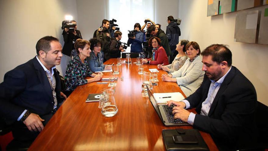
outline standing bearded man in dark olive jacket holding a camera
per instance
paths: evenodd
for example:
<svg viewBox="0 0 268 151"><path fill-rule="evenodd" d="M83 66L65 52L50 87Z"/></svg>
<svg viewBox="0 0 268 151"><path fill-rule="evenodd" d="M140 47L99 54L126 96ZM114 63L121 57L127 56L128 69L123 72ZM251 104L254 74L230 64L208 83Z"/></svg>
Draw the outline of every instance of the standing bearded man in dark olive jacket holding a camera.
<svg viewBox="0 0 268 151"><path fill-rule="evenodd" d="M96 37L101 41L101 53L104 57L104 61L109 59L109 44L111 41L110 32L109 32L110 22L109 20L102 20L102 26L96 32Z"/></svg>

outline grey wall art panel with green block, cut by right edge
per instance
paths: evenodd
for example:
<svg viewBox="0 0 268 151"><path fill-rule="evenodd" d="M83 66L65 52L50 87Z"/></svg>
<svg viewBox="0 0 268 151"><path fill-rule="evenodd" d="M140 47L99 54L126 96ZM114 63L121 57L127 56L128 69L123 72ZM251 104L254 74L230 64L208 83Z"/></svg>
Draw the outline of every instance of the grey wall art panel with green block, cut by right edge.
<svg viewBox="0 0 268 151"><path fill-rule="evenodd" d="M258 44L268 45L268 6L261 7Z"/></svg>

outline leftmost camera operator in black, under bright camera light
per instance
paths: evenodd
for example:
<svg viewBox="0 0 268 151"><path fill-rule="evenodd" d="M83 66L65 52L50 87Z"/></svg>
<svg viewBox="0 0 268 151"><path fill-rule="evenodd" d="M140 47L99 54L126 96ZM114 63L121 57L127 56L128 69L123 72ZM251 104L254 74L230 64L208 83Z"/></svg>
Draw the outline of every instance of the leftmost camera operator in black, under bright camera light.
<svg viewBox="0 0 268 151"><path fill-rule="evenodd" d="M67 64L71 61L72 56L76 56L76 50L74 49L74 43L76 39L82 39L81 32L77 30L77 23L75 20L71 20L70 22L65 20L62 21L62 36L64 45L62 48L62 74L65 76L65 71Z"/></svg>

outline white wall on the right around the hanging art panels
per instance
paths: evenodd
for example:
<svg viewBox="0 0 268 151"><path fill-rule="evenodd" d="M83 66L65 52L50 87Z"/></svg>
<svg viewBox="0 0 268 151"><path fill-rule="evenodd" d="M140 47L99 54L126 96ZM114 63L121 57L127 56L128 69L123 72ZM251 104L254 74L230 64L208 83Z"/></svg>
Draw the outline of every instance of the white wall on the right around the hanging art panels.
<svg viewBox="0 0 268 151"><path fill-rule="evenodd" d="M206 13L207 1L180 0L180 39L198 42L201 50L215 43L229 45L233 65L255 86L258 100L268 105L268 45L234 42L236 12L209 17Z"/></svg>

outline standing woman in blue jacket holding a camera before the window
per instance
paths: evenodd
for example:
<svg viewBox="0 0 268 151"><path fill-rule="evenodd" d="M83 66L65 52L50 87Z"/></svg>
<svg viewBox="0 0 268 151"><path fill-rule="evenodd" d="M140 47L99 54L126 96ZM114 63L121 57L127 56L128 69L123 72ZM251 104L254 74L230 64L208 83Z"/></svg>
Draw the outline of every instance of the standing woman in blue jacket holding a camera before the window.
<svg viewBox="0 0 268 151"><path fill-rule="evenodd" d="M130 46L130 52L142 52L142 42L143 42L143 33L140 31L141 27L139 23L135 23L134 30L137 30L137 33L134 37L129 37L128 44Z"/></svg>

